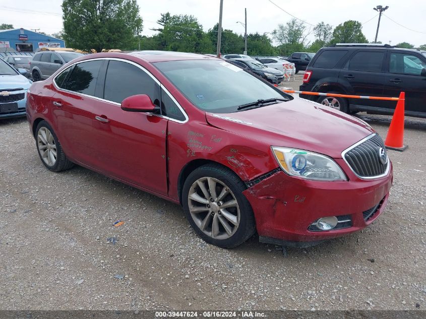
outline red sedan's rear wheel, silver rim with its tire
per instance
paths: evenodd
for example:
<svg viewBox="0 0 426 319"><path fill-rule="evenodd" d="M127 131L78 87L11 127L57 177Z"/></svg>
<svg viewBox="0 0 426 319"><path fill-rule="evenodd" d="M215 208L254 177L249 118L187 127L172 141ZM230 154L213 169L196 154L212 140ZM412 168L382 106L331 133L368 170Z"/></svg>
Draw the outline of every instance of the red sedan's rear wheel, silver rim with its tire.
<svg viewBox="0 0 426 319"><path fill-rule="evenodd" d="M52 127L46 121L39 122L36 127L35 143L38 156L47 169L59 172L74 166L74 163L65 155Z"/></svg>

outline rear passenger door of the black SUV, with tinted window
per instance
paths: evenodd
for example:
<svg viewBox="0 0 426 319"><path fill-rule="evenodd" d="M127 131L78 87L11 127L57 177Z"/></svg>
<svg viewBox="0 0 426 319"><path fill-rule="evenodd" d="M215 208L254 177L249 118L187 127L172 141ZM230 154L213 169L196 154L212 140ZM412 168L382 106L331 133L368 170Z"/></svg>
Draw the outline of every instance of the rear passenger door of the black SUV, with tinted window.
<svg viewBox="0 0 426 319"><path fill-rule="evenodd" d="M339 84L349 94L362 96L383 96L384 60L386 50L358 50L354 52L339 74ZM366 107L385 107L383 101L369 99L350 99L352 109ZM359 106L358 108L356 106Z"/></svg>

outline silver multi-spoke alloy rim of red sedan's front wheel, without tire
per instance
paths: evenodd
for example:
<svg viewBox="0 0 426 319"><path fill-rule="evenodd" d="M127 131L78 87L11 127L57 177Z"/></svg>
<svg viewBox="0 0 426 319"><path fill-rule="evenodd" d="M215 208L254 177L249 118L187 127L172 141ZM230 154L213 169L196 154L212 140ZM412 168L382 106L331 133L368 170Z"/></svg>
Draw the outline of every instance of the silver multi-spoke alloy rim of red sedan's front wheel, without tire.
<svg viewBox="0 0 426 319"><path fill-rule="evenodd" d="M197 179L190 188L188 206L195 224L211 238L227 239L238 229L238 202L229 187L216 178Z"/></svg>

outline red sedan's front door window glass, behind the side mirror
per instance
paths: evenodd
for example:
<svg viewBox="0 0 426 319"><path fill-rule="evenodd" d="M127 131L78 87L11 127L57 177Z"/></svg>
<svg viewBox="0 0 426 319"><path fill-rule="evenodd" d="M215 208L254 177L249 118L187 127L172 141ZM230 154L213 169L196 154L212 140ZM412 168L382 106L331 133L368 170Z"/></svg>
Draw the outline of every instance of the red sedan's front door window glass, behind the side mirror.
<svg viewBox="0 0 426 319"><path fill-rule="evenodd" d="M110 60L106 71L104 99L121 103L129 96L147 94L160 105L160 86L140 68L127 62Z"/></svg>

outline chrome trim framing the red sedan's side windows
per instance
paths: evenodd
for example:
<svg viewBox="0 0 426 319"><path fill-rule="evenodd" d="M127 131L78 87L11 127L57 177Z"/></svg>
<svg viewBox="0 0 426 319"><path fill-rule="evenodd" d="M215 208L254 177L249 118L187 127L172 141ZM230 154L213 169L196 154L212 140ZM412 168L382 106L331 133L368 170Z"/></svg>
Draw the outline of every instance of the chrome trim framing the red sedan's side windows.
<svg viewBox="0 0 426 319"><path fill-rule="evenodd" d="M88 95L88 94L84 94L84 93L78 93L78 92L74 92L74 91L70 91L70 90L66 90L66 89L62 89L62 88L59 88L57 85L56 85L56 78L60 75L60 74L62 74L63 72L65 72L66 70L68 70L68 69L70 69L71 67L73 67L74 65L77 65L77 64L79 64L79 63L83 63L83 62L89 62L89 61L96 61L96 60L113 60L113 61L120 61L120 62L126 62L126 63L129 63L129 64L131 64L131 65L134 65L135 67L138 67L139 69L141 69L143 72L145 72L151 79L153 79L154 80L154 82L155 83L157 83L159 86L160 86L160 89L163 89L164 90L164 92L166 92L167 93L167 95L170 97L170 99L177 105L177 107L179 108L179 110L182 112L182 114L184 114L184 116L185 116L185 120L178 120L178 119L175 119L175 118L172 118L172 117L169 117L169 116L164 116L164 115L160 115L160 114L155 114L155 113L145 113L145 114L148 114L148 115L154 115L154 116L158 116L158 117L162 117L162 118L165 118L165 119L168 119L168 120L171 120L171 121L173 121L173 122L177 122L177 123L186 123L186 122L188 122L188 120L189 120L189 117L188 117L188 114L185 112L185 110L180 106L180 104L176 101L176 99L170 94L170 92L160 83L160 81L158 81L157 80L157 78L156 77L154 77L148 70L146 70L144 67L142 67L141 65L139 65L138 63L135 63L135 62L133 62L133 61L130 61L130 60L126 60L126 59L123 59L123 58L117 58L117 57L96 57L96 58L91 58L91 59L87 59L87 60L82 60L82 61L77 61L77 62L74 62L74 63L72 63L71 65L69 65L66 69L64 69L63 71L61 71L61 72L59 72L57 75L55 75L54 76L54 78L53 78L53 81L52 81L52 83L53 83L53 86L55 87L55 89L56 90L58 90L58 91L63 91L63 92L68 92L68 93L73 93L73 94L77 94L77 95L80 95L80 96L84 96L84 97L88 97L88 98L92 98L92 99L95 99L95 100L98 100L98 101L102 101L102 102L107 102L107 103L110 103L110 104L113 104L113 105L117 105L117 106L121 106L121 104L120 103L117 103L117 102L114 102L114 101L110 101L110 100L105 100L105 99L102 99L102 98L100 98L100 97L97 97L97 96L92 96L92 95Z"/></svg>

